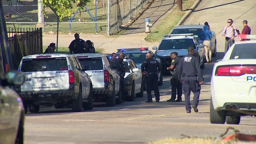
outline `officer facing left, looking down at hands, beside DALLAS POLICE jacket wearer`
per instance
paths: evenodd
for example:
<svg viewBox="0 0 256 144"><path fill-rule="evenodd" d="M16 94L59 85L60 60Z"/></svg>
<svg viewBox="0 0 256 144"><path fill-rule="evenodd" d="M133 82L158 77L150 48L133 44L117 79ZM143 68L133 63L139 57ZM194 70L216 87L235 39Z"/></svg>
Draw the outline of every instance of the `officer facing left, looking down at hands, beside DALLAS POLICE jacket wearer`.
<svg viewBox="0 0 256 144"><path fill-rule="evenodd" d="M178 68L178 64L180 61L180 57L177 57L178 53L177 52L172 52L171 53L171 66L167 68L167 70L170 70L170 73L172 74L171 78L171 85L172 85L172 96L171 99L167 100L168 102L174 102L176 99L176 89L177 89L177 100L176 102L182 102L181 100L181 95L182 95L182 85L181 82L178 80L178 74L176 69ZM176 69L175 69L176 68Z"/></svg>

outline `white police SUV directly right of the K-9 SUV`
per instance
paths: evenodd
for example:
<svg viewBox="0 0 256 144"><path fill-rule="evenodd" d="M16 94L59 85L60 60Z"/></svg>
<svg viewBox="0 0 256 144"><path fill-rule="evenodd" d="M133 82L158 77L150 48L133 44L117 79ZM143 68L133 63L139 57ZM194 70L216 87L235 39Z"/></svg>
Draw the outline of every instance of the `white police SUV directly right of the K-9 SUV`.
<svg viewBox="0 0 256 144"><path fill-rule="evenodd" d="M120 76L106 54L76 54L85 67L85 71L93 83L94 102L106 102L107 106L115 106L122 103L120 91ZM120 64L119 64L120 66Z"/></svg>

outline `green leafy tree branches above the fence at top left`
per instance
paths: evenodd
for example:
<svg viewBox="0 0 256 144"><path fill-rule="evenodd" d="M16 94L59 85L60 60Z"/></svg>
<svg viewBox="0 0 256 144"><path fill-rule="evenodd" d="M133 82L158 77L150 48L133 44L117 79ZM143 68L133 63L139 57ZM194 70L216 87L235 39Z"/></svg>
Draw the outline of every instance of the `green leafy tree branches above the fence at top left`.
<svg viewBox="0 0 256 144"><path fill-rule="evenodd" d="M41 0L43 7L49 7L56 15L59 16L60 21L65 17L70 17L77 9L84 9L84 5L90 0ZM73 4L76 7L73 8ZM45 15L45 11L43 10Z"/></svg>

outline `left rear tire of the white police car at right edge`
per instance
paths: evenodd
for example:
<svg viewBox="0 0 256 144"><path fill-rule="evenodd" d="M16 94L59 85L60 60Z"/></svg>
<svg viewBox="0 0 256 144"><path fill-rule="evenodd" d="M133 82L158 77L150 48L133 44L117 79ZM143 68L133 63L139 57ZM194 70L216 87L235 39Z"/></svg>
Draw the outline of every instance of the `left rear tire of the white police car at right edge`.
<svg viewBox="0 0 256 144"><path fill-rule="evenodd" d="M215 111L212 100L210 103L210 121L211 124L224 124L226 120L225 111Z"/></svg>

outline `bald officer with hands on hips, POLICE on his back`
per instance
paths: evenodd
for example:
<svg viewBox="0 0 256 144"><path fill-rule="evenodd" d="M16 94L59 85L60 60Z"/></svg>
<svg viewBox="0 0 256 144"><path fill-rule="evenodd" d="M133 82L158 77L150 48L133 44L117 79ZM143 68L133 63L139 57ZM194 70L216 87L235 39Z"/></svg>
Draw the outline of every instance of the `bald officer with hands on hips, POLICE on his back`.
<svg viewBox="0 0 256 144"><path fill-rule="evenodd" d="M159 102L160 100L160 94L158 90L158 73L161 71L162 66L161 64L151 58L151 54L147 53L146 54L146 61L142 63L141 65L141 70L143 74L146 74L146 91L147 91L147 100L145 102L153 102L152 101L152 96L151 96L151 89L153 86L154 89L154 94L156 97L156 102Z"/></svg>

